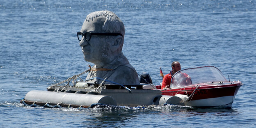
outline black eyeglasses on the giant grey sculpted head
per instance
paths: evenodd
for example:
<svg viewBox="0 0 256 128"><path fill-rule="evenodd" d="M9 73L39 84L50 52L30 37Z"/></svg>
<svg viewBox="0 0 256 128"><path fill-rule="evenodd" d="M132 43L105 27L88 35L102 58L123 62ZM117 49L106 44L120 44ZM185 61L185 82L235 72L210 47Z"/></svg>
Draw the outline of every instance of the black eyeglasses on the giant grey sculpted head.
<svg viewBox="0 0 256 128"><path fill-rule="evenodd" d="M85 33L82 33L82 32L77 32L76 33L77 36L78 36L78 40L81 41L82 37L85 37L85 39L87 41L89 41L91 39L91 35L103 35L103 36L122 36L123 35L121 33L91 33L91 32L85 32Z"/></svg>

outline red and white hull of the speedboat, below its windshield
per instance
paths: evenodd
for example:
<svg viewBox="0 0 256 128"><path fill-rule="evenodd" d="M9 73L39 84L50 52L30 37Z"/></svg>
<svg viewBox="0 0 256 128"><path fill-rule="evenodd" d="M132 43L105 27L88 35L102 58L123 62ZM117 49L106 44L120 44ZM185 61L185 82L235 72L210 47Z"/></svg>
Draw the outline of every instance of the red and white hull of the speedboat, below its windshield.
<svg viewBox="0 0 256 128"><path fill-rule="evenodd" d="M192 107L231 107L241 85L241 82L222 85L190 85L162 90L162 95L187 95L189 99L184 104Z"/></svg>

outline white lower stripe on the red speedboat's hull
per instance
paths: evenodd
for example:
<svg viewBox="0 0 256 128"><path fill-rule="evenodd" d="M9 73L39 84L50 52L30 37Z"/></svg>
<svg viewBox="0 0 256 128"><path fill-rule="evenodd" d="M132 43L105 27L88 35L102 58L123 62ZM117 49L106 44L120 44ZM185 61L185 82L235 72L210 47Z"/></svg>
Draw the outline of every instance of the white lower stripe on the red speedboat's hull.
<svg viewBox="0 0 256 128"><path fill-rule="evenodd" d="M222 96L217 98L206 98L201 100L192 100L185 102L185 105L192 107L214 107L226 105L231 107L234 96Z"/></svg>

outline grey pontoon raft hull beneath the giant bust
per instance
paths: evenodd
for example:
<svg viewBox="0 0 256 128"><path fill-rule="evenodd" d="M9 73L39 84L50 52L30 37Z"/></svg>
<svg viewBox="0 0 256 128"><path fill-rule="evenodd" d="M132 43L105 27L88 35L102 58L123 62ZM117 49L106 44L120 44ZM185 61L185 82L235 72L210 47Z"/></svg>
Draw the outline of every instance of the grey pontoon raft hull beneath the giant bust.
<svg viewBox="0 0 256 128"><path fill-rule="evenodd" d="M159 105L162 92L160 90L145 89L102 89L96 92L88 91L87 93L78 93L71 91L72 87L66 87L64 92L60 91L29 91L21 101L23 104L31 105L72 105L74 107L88 108L93 104L105 104L114 106L147 106ZM68 91L69 90L69 91ZM171 98L168 96L165 98ZM167 103L170 103L169 101ZM44 105L45 106L45 105Z"/></svg>

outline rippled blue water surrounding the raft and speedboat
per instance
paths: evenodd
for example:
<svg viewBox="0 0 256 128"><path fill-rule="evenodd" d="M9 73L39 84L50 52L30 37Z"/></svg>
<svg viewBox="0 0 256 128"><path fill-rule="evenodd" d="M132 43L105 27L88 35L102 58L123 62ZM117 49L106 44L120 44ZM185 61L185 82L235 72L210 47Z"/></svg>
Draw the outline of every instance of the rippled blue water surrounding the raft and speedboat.
<svg viewBox="0 0 256 128"><path fill-rule="evenodd" d="M167 105L147 109L24 107L30 90L88 69L76 32L87 14L110 10L126 29L123 53L160 84L159 67L216 66L240 80L231 109ZM91 64L93 65L93 64ZM0 126L256 127L256 0L1 0Z"/></svg>

